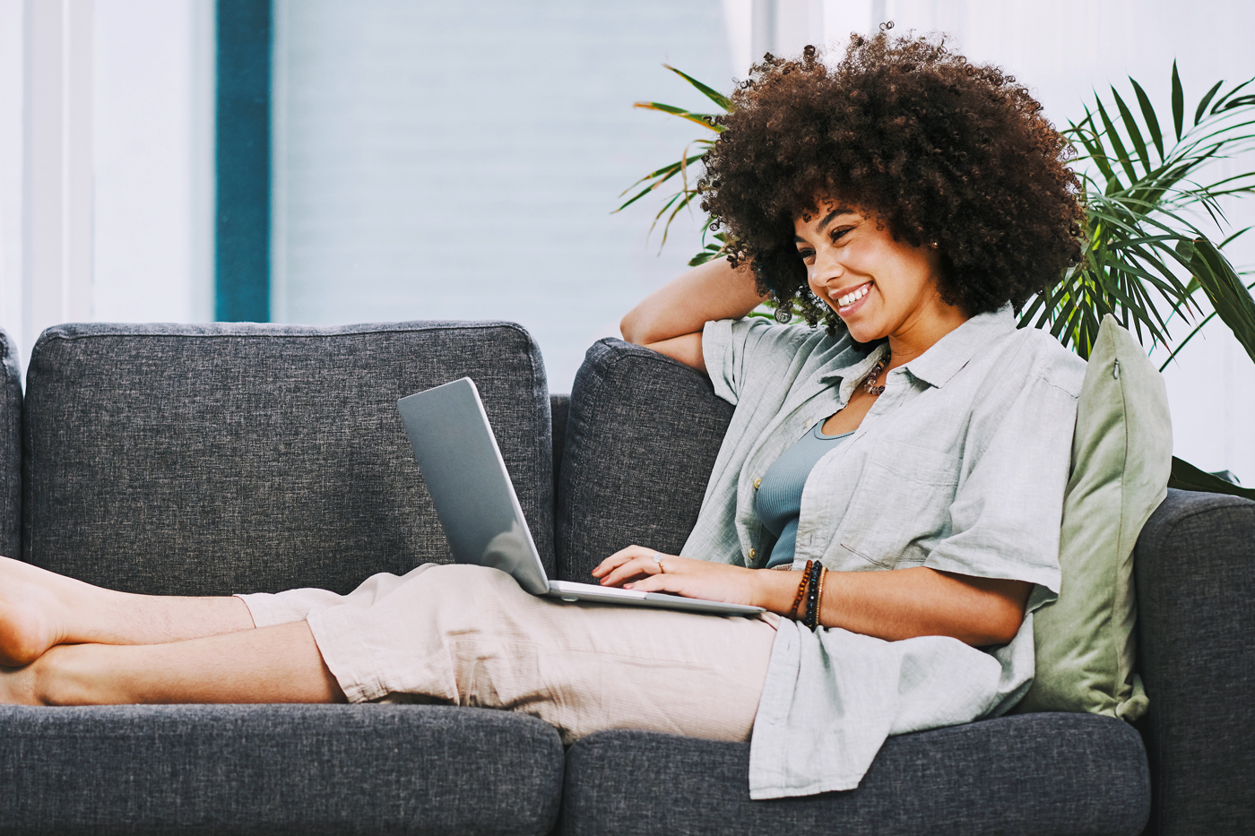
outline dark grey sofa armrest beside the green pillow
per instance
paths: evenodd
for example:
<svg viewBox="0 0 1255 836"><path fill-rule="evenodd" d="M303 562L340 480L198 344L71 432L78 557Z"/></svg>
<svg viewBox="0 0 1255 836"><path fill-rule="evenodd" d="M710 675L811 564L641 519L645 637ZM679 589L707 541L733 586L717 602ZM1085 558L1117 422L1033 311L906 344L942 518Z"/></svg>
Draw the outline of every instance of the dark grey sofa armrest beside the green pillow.
<svg viewBox="0 0 1255 836"><path fill-rule="evenodd" d="M1160 836L1255 831L1255 502L1168 491L1137 541Z"/></svg>

